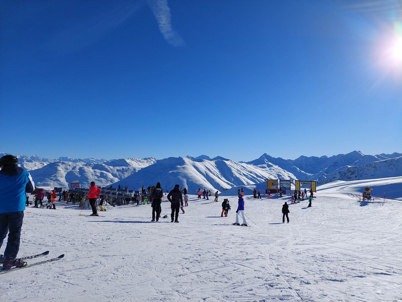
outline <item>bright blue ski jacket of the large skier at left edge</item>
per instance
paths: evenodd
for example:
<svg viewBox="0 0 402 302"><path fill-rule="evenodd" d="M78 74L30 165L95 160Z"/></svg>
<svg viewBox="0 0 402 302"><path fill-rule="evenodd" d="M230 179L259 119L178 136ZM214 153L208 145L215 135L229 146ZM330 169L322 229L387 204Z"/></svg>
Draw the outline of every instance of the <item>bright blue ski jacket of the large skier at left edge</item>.
<svg viewBox="0 0 402 302"><path fill-rule="evenodd" d="M0 171L0 213L25 210L27 195L35 190L31 174L18 166L3 167Z"/></svg>

